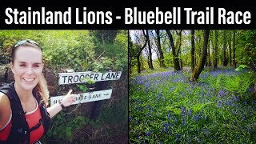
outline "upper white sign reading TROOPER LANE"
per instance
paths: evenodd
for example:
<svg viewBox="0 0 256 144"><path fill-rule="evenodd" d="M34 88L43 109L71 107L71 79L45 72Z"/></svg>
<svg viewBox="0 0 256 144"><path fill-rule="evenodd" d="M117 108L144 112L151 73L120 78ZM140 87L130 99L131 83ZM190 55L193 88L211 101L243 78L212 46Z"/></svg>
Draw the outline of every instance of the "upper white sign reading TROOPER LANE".
<svg viewBox="0 0 256 144"><path fill-rule="evenodd" d="M118 80L121 77L122 71L110 71L106 73L95 73L92 71L76 72L76 73L59 73L58 85L71 83L82 83L84 78L90 78L94 82Z"/></svg>

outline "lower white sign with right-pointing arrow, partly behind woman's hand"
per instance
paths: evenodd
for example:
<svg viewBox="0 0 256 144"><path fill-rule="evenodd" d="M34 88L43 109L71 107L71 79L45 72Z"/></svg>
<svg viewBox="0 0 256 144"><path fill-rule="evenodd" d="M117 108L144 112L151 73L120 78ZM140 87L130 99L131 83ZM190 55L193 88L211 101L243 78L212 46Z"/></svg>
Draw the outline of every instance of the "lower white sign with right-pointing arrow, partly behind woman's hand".
<svg viewBox="0 0 256 144"><path fill-rule="evenodd" d="M109 99L111 97L111 94L112 94L112 89L93 91L90 93L83 93L83 94L74 94L76 101L73 102L72 105L75 105L78 103L94 102L94 101L99 101L103 99ZM54 104L58 103L58 101L61 101L64 96L65 95L51 97L50 106L54 106Z"/></svg>

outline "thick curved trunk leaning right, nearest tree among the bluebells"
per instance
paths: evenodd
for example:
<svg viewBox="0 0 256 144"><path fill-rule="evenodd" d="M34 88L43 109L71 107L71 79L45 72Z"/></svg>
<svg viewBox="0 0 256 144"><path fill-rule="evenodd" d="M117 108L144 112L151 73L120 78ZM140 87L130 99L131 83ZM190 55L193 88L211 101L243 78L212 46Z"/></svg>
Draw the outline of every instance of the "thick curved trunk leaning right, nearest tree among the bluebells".
<svg viewBox="0 0 256 144"><path fill-rule="evenodd" d="M193 71L192 78L190 78L190 81L198 80L198 77L202 72L203 66L206 63L209 34L210 34L210 30L204 30L202 55L201 55L200 61L198 62L198 65L196 66L195 70Z"/></svg>

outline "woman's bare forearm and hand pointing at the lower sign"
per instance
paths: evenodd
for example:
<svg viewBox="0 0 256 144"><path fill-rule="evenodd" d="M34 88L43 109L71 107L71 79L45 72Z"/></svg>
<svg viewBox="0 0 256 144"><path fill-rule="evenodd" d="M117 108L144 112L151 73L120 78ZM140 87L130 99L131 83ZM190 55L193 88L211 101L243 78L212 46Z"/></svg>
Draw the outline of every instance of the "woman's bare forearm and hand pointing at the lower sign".
<svg viewBox="0 0 256 144"><path fill-rule="evenodd" d="M72 90L70 90L66 96L62 99L62 104L66 106L70 106L73 102L75 102L74 94L71 94ZM62 110L62 106L59 103L56 103L54 106L50 106L47 108L48 113L50 114L50 118L53 118L54 115L58 114Z"/></svg>

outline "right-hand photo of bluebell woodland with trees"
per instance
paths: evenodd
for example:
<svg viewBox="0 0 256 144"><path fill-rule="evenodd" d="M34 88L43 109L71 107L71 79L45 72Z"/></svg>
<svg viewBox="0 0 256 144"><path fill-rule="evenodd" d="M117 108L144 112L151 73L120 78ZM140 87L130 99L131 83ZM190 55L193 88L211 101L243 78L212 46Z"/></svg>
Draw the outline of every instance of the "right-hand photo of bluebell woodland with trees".
<svg viewBox="0 0 256 144"><path fill-rule="evenodd" d="M256 142L256 30L129 30L129 143Z"/></svg>

